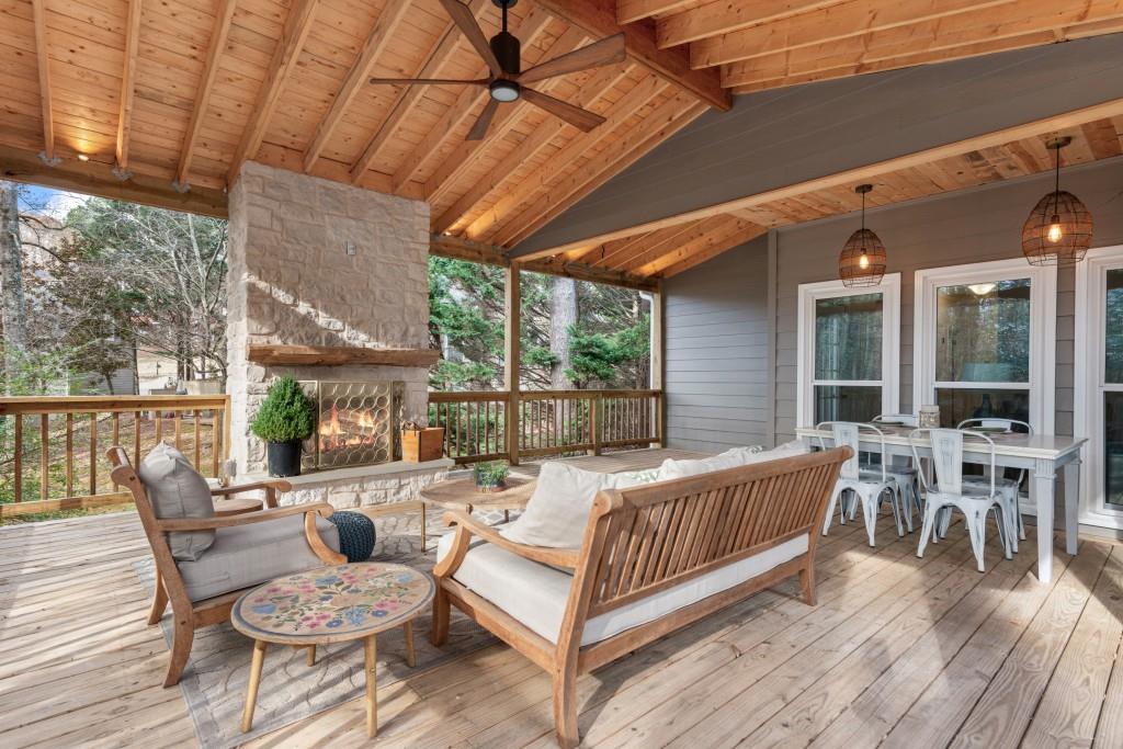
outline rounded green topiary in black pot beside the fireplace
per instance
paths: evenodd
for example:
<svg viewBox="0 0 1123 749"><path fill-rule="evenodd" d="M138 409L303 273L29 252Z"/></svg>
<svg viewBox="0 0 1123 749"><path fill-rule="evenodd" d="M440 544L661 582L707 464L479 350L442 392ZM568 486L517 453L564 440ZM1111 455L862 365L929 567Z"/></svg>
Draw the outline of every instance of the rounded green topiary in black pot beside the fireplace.
<svg viewBox="0 0 1123 749"><path fill-rule="evenodd" d="M250 429L266 442L271 476L299 476L300 444L316 429L316 404L285 375L270 386Z"/></svg>

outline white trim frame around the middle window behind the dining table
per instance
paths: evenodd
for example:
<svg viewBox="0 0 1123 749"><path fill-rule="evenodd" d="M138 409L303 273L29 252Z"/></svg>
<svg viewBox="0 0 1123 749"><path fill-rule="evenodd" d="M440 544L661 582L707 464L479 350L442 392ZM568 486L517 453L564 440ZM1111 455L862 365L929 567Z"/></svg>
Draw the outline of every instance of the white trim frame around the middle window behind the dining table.
<svg viewBox="0 0 1123 749"><path fill-rule="evenodd" d="M916 271L913 293L913 410L935 402L935 290L939 286L1030 280L1030 423L1053 433L1057 400L1057 268L1024 258ZM953 383L956 387L1026 389L1026 383Z"/></svg>

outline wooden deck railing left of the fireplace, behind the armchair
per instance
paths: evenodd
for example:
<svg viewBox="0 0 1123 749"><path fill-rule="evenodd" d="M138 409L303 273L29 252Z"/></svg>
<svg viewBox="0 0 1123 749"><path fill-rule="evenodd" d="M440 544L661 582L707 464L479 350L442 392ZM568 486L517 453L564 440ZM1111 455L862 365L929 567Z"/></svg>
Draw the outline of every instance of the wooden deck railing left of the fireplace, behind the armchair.
<svg viewBox="0 0 1123 749"><path fill-rule="evenodd" d="M174 439L207 476L229 455L228 395L0 398L0 517L129 502L110 479L110 445L139 463Z"/></svg>

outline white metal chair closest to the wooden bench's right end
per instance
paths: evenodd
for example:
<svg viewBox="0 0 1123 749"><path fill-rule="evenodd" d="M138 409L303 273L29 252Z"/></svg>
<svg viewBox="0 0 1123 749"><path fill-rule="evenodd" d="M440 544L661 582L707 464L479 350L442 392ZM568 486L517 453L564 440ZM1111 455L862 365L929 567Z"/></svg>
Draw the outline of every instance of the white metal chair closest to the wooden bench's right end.
<svg viewBox="0 0 1123 749"><path fill-rule="evenodd" d="M885 469L885 465L875 466L870 469L862 469L858 458L859 436L862 430L875 432L882 441L882 454L885 453L885 432L873 424L856 423L851 421L824 421L815 429L830 429L834 437L834 447L847 446L853 450L853 456L842 464L839 478L831 493L830 504L827 506L827 517L823 520L823 536L831 526L831 517L834 514L836 505L839 505L840 522L846 522L847 513L853 518L857 505L846 506L844 496L857 497L861 503L862 518L866 521L866 536L869 545L874 546L874 531L877 529L877 513L882 508L882 502L887 496L889 506L893 510L893 520L897 524L897 536L904 536L904 527L901 523L901 502L897 494L896 482ZM819 440L820 447L827 448L822 438ZM841 501L840 501L841 500Z"/></svg>

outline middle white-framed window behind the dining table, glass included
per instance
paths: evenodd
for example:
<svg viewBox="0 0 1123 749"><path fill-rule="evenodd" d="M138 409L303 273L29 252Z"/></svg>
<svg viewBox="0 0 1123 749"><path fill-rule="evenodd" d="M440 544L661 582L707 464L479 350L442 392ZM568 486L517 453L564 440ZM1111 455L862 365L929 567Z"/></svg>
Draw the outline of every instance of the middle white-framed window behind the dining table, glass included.
<svg viewBox="0 0 1123 749"><path fill-rule="evenodd" d="M914 407L940 421L1004 417L1053 429L1056 268L1019 258L916 272Z"/></svg>

